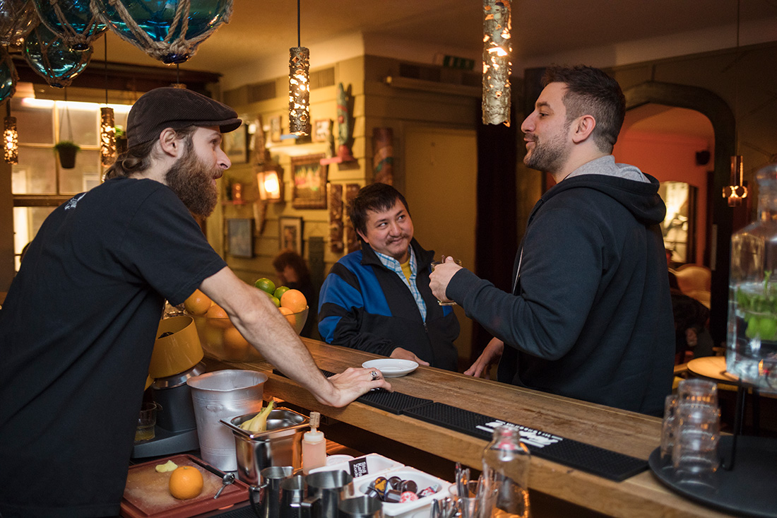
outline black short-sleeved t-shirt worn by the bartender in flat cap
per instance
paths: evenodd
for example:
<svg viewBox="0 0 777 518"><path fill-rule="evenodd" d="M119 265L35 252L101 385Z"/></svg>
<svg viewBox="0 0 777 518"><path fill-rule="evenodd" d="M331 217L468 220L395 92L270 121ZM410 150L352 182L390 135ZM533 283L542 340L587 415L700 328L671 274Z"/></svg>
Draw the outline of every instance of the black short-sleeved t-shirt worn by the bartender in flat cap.
<svg viewBox="0 0 777 518"><path fill-rule="evenodd" d="M154 180L51 213L0 310L2 516L118 513L164 301L225 266Z"/></svg>

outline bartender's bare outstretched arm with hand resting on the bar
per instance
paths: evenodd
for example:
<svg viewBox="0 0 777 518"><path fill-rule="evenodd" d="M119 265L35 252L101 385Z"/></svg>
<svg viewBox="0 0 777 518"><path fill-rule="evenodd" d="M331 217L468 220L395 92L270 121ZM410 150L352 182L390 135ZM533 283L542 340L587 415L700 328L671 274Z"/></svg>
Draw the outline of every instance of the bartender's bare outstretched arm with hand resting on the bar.
<svg viewBox="0 0 777 518"><path fill-rule="evenodd" d="M315 365L288 321L259 289L242 282L229 268L206 278L200 290L224 308L240 334L277 369L309 390L322 404L343 407L374 388L392 390L375 369L348 368L327 379Z"/></svg>

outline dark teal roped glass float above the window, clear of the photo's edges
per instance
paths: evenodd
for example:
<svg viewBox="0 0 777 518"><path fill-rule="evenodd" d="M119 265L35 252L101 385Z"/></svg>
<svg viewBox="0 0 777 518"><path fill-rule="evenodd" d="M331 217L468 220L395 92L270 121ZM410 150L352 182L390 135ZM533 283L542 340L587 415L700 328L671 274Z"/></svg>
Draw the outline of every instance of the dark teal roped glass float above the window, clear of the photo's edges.
<svg viewBox="0 0 777 518"><path fill-rule="evenodd" d="M89 65L92 47L74 51L47 26L39 23L25 38L23 54L30 67L49 85L64 88Z"/></svg>

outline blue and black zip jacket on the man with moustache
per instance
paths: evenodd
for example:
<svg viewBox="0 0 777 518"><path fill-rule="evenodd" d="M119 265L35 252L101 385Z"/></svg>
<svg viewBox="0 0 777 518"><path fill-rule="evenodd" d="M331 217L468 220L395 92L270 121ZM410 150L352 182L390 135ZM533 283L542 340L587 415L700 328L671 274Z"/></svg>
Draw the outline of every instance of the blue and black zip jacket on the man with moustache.
<svg viewBox="0 0 777 518"><path fill-rule="evenodd" d="M434 251L413 239L418 274L416 286L427 303L424 323L413 295L394 271L385 268L375 250L361 250L337 261L319 296L319 333L329 344L389 356L406 348L433 367L455 371L458 320L451 306L440 306L429 289Z"/></svg>

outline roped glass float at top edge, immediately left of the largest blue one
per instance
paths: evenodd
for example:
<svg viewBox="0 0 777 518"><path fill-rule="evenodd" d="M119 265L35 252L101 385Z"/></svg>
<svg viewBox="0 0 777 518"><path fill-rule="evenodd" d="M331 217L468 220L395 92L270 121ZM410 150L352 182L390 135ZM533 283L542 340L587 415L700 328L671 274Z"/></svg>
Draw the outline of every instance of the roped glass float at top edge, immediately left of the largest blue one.
<svg viewBox="0 0 777 518"><path fill-rule="evenodd" d="M89 0L33 0L40 21L74 51L85 51L105 30L89 9ZM64 23L61 21L64 19Z"/></svg>

